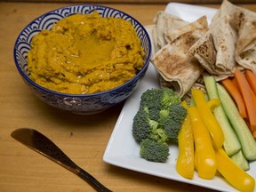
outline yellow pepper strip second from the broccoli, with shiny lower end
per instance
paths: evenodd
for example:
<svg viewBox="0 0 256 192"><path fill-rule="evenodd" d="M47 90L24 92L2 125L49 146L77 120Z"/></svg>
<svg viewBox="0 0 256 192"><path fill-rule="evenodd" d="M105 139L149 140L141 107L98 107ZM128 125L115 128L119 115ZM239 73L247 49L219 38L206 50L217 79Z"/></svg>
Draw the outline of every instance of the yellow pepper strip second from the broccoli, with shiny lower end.
<svg viewBox="0 0 256 192"><path fill-rule="evenodd" d="M196 107L188 108L196 148L196 169L198 176L211 180L217 171L217 161L210 132L206 128Z"/></svg>

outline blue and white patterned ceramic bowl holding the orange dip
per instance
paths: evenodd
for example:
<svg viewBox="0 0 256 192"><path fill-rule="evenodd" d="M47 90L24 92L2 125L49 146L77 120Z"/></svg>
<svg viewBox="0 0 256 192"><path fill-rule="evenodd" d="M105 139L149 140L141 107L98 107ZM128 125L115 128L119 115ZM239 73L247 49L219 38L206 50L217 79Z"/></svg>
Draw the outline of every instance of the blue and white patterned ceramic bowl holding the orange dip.
<svg viewBox="0 0 256 192"><path fill-rule="evenodd" d="M52 28L52 24L56 21L68 17L75 13L92 13L94 10L100 13L101 17L114 17L129 20L132 26L135 28L137 36L140 38L141 45L146 52L144 58L144 67L140 72L134 76L130 81L126 82L115 89L107 92L99 92L93 94L66 94L60 92L53 92L49 89L36 84L29 78L27 54L30 50L31 40L42 29ZM18 68L20 75L26 84L36 93L36 96L44 100L45 103L63 110L68 110L77 114L91 115L97 114L101 111L115 106L117 103L128 98L132 92L140 84L141 78L145 75L148 69L148 63L151 52L151 44L148 33L145 28L140 24L138 20L135 20L130 15L120 12L116 9L94 5L72 5L63 7L52 12L47 12L44 15L36 18L24 28L20 36L18 36L14 44L14 60L16 67Z"/></svg>

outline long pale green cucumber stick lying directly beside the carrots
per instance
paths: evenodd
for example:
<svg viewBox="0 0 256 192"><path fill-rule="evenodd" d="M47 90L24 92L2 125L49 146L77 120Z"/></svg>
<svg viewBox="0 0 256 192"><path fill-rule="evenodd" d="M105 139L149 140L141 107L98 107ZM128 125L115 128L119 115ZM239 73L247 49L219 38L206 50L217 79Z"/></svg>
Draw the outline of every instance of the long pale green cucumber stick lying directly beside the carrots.
<svg viewBox="0 0 256 192"><path fill-rule="evenodd" d="M226 89L222 85L216 84L222 106L241 143L245 158L248 161L256 160L256 141L253 139L249 127L244 122L242 116L240 116L236 103L232 100Z"/></svg>

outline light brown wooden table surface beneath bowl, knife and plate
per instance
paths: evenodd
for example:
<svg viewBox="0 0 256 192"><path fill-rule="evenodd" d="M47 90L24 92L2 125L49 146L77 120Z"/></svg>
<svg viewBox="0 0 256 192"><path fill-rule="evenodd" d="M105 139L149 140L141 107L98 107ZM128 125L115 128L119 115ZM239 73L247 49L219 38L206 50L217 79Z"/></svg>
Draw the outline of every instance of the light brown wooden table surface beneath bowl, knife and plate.
<svg viewBox="0 0 256 192"><path fill-rule="evenodd" d="M104 151L123 104L100 115L76 116L47 106L30 92L14 65L14 41L29 21L65 5L68 4L0 3L0 191L94 191L75 174L13 140L11 132L20 127L43 132L76 164L113 191L211 191L103 162ZM165 5L110 4L144 25L151 24L156 12L164 10ZM220 5L212 6L218 8ZM244 6L256 11L255 4Z"/></svg>

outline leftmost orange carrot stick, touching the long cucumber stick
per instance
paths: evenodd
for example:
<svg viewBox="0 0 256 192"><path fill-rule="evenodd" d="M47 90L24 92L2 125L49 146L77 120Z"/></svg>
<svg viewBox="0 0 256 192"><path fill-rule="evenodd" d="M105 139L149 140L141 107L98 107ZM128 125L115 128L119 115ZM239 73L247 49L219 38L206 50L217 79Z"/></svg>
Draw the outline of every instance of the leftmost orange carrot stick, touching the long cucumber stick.
<svg viewBox="0 0 256 192"><path fill-rule="evenodd" d="M243 118L246 118L247 115L246 115L244 99L241 93L239 92L239 90L236 88L236 85L234 84L234 82L232 82L230 78L226 78L221 80L220 83L225 87L225 89L228 91L228 93L233 98L233 100L235 100L236 106L239 110L240 115Z"/></svg>

